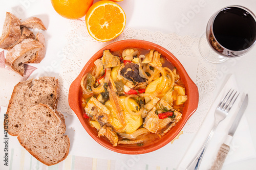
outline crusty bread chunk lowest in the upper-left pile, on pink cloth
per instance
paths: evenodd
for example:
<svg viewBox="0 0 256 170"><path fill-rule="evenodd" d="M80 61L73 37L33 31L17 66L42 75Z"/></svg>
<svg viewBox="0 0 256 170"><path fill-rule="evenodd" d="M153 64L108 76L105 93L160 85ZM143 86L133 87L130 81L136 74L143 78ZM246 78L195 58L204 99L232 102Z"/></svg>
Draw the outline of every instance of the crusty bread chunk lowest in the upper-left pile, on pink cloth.
<svg viewBox="0 0 256 170"><path fill-rule="evenodd" d="M5 63L18 74L24 76L24 63L36 60L36 53L42 47L43 45L36 40L31 38L25 39L7 53Z"/></svg>

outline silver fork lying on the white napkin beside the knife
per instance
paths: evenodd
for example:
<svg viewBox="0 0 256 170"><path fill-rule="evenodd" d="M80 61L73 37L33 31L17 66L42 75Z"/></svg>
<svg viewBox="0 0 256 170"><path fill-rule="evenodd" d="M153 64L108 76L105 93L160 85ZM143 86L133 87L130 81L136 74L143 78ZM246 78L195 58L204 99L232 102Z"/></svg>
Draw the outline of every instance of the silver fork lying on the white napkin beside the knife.
<svg viewBox="0 0 256 170"><path fill-rule="evenodd" d="M206 138L206 140L204 141L201 149L199 150L199 152L197 153L197 155L194 157L194 159L188 164L186 170L196 170L199 168L202 157L204 155L204 151L207 148L207 144L210 141L212 135L214 134L217 126L219 125L219 123L227 116L229 110L231 109L231 107L233 106L234 102L237 100L238 95L236 96L237 92L234 92L234 90L230 89L228 91L228 93L224 96L224 98L221 100L221 102L219 103L219 105L217 106L216 110L215 110L215 123L214 126L212 127L208 137Z"/></svg>

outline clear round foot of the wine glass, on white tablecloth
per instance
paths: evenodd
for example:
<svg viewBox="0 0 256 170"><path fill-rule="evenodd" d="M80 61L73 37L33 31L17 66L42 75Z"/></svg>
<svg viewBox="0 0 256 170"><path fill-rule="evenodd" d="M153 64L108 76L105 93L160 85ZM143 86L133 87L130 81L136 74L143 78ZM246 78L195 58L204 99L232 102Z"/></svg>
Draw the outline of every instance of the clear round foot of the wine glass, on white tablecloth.
<svg viewBox="0 0 256 170"><path fill-rule="evenodd" d="M212 48L209 46L205 33L201 36L199 40L199 51L203 58L211 63L223 63L228 60L228 57L223 57L218 55Z"/></svg>

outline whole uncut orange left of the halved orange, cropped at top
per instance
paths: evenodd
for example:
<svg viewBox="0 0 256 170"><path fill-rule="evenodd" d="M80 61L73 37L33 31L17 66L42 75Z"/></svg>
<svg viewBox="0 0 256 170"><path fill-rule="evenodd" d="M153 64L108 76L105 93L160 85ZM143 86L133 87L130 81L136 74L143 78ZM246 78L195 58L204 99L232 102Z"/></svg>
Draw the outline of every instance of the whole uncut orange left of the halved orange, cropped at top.
<svg viewBox="0 0 256 170"><path fill-rule="evenodd" d="M68 19L78 19L86 15L93 0L51 0L54 10Z"/></svg>

